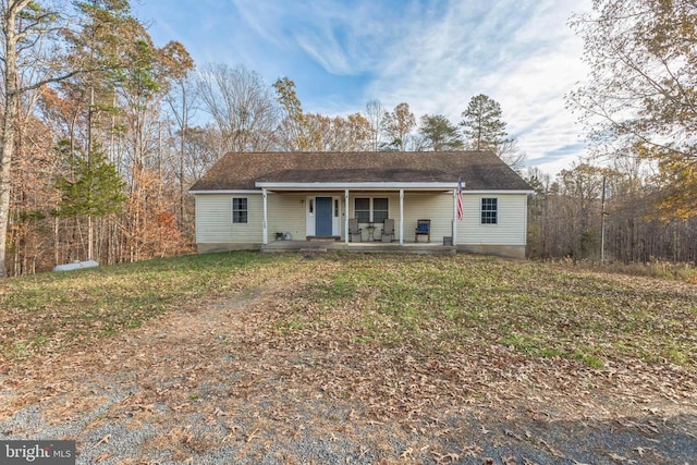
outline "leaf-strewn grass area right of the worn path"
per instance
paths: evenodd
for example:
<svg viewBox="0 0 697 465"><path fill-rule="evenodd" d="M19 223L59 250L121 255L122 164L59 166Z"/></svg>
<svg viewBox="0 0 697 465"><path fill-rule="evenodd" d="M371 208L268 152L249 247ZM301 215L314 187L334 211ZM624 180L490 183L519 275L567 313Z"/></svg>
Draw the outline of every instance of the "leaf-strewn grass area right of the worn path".
<svg viewBox="0 0 697 465"><path fill-rule="evenodd" d="M338 319L362 343L502 344L594 368L608 357L657 354L694 364L681 355L696 348L688 286L476 256L346 257L344 269L351 297L334 294L333 304L352 308L355 318ZM673 341L690 348L675 350Z"/></svg>

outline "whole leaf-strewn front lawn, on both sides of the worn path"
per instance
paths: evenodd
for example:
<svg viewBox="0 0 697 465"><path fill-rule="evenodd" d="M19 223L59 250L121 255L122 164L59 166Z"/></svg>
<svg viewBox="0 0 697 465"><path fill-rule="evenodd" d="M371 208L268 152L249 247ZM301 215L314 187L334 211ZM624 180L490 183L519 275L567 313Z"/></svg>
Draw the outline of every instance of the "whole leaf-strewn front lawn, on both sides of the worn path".
<svg viewBox="0 0 697 465"><path fill-rule="evenodd" d="M295 345L425 353L510 346L600 368L612 358L695 366L697 291L555 264L456 255L230 253L0 282L10 359L63 351L283 279L265 315ZM259 328L264 331L265 328ZM40 341L40 343L38 342Z"/></svg>

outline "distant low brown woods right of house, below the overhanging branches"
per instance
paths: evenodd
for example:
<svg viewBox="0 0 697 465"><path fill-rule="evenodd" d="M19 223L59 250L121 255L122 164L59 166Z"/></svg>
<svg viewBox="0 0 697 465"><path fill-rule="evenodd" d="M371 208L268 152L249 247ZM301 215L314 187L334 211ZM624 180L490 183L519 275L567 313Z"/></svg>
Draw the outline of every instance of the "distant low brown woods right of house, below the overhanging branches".
<svg viewBox="0 0 697 465"><path fill-rule="evenodd" d="M663 186L640 170L636 160L613 168L578 163L553 180L528 170L536 191L529 200L528 256L697 264L697 217L660 215Z"/></svg>

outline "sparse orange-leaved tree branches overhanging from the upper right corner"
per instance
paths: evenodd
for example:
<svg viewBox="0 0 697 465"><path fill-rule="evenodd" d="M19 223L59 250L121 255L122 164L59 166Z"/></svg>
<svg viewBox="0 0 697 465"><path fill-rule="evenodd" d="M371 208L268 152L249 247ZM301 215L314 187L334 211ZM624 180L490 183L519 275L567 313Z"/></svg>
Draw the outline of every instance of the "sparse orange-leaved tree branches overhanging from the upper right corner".
<svg viewBox="0 0 697 465"><path fill-rule="evenodd" d="M697 4L596 0L572 26L588 79L570 95L595 149L657 162L663 213L697 215Z"/></svg>

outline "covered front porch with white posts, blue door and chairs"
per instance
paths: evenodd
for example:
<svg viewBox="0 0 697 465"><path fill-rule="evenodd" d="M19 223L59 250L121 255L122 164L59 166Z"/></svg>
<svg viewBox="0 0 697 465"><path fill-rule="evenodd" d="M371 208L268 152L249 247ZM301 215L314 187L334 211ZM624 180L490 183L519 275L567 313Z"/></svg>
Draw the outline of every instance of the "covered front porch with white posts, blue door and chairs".
<svg viewBox="0 0 697 465"><path fill-rule="evenodd" d="M420 243L457 245L453 184L386 184L257 183L262 194L262 249L317 247L321 240L329 240L322 241L326 247L321 248L366 252L406 247L418 253ZM417 234L423 219L429 223L428 234ZM388 236L387 220L391 223Z"/></svg>

